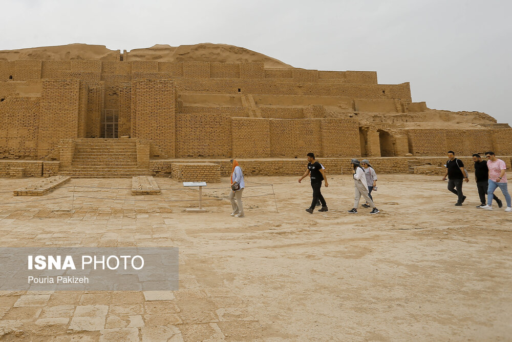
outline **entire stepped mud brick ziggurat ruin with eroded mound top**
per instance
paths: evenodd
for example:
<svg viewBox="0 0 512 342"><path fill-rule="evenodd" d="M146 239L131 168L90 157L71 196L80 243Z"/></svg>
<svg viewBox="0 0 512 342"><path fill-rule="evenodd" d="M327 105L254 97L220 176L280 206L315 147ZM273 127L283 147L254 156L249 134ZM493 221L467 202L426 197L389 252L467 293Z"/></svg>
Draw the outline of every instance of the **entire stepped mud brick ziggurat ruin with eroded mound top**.
<svg viewBox="0 0 512 342"><path fill-rule="evenodd" d="M278 175L302 172L308 152L332 173L352 157L413 172L447 150L510 165L512 128L414 103L409 83L378 84L374 71L298 69L228 45L0 51L0 176L217 180L231 157Z"/></svg>

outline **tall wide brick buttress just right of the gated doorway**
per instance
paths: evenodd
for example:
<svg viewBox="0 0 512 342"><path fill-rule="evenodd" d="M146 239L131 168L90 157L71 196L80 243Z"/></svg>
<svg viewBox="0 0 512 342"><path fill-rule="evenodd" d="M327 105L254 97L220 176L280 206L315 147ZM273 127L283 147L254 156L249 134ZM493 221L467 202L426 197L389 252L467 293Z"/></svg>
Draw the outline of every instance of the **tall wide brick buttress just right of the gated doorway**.
<svg viewBox="0 0 512 342"><path fill-rule="evenodd" d="M132 137L151 140L164 155L174 157L175 107L172 81L139 79L132 82Z"/></svg>

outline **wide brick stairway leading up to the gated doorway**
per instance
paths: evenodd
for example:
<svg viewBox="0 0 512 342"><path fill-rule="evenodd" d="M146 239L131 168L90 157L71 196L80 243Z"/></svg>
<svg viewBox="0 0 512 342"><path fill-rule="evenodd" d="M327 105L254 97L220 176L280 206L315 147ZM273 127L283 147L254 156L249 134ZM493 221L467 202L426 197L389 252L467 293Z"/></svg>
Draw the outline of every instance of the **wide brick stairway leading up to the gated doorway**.
<svg viewBox="0 0 512 342"><path fill-rule="evenodd" d="M137 167L137 148L128 139L87 139L76 143L71 166L59 174L72 177L132 177L151 175Z"/></svg>

